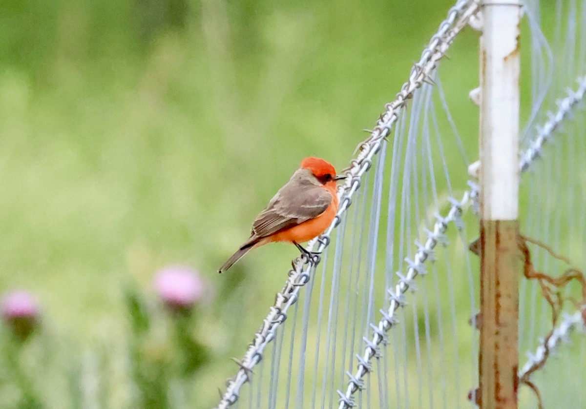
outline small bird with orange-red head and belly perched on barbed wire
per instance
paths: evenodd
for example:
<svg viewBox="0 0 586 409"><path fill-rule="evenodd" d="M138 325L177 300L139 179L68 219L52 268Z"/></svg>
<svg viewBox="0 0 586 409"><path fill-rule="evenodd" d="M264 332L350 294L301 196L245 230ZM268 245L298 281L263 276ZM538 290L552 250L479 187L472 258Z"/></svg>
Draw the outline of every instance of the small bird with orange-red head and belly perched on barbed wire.
<svg viewBox="0 0 586 409"><path fill-rule="evenodd" d="M248 240L218 272L228 270L253 248L279 241L295 244L311 258L312 253L299 243L319 236L332 224L339 205L336 182L345 178L336 175L336 169L324 159L303 159L291 179L254 219Z"/></svg>

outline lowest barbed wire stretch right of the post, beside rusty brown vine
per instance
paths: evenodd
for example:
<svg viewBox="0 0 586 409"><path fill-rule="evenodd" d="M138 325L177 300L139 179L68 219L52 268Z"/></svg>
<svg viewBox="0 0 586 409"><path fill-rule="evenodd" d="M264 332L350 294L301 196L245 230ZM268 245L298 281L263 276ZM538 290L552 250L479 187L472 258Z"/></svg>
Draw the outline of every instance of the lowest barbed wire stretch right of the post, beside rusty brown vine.
<svg viewBox="0 0 586 409"><path fill-rule="evenodd" d="M534 367L540 367L543 365L544 361L547 359L547 355L556 349L562 341L568 340L570 333L575 329L586 331L586 309L576 311L573 314L564 315L560 325L554 328L551 336L539 340L540 345L537 346L535 353L527 351L527 362L517 374L519 379L522 379Z"/></svg>

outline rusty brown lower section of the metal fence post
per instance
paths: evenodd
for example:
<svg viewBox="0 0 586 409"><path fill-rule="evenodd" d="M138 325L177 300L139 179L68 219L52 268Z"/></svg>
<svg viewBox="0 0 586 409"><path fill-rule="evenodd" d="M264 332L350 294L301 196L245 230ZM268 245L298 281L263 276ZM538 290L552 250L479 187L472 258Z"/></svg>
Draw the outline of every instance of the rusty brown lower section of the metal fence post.
<svg viewBox="0 0 586 409"><path fill-rule="evenodd" d="M517 408L518 231L516 220L481 221L479 366L483 409Z"/></svg>

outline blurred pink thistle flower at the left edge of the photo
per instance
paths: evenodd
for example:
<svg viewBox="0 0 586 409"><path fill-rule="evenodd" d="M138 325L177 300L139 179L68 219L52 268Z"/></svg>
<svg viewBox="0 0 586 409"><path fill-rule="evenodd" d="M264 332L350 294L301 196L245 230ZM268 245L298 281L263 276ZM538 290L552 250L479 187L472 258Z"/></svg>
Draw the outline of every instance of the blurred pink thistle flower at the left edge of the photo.
<svg viewBox="0 0 586 409"><path fill-rule="evenodd" d="M27 291L8 292L2 298L2 318L13 332L25 340L39 320L39 306Z"/></svg>

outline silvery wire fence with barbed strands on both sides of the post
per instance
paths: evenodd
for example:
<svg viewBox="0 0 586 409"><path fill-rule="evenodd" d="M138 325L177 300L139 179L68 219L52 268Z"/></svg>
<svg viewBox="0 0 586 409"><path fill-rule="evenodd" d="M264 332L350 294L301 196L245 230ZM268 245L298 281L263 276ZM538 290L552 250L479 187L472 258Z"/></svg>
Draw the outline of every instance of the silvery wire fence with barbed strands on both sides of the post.
<svg viewBox="0 0 586 409"><path fill-rule="evenodd" d="M574 220L574 230L568 228L568 231L573 232L572 237L580 236L578 243L586 243L586 217L576 214L576 209L580 209L577 203L586 206L586 195L578 197L584 193L579 181L586 175L586 169L584 161L576 159L582 152L586 155L580 131L586 125L584 114L580 113L586 93L583 76L586 29L585 25L577 29L578 22L586 23L586 2L581 2L581 13L577 12L577 2L571 1L568 8L562 3L556 1L555 19L567 18L567 21L556 25L554 40L548 40L550 33L542 30L544 21L539 2L527 2L524 6L532 38L532 108L523 131L526 148L519 162L520 172L529 173L527 178L531 180L529 187L524 188L529 191L524 193L530 199L522 203L526 212L522 214L527 219L523 234L540 237L558 249L564 248L563 243L568 245L568 241L547 239L561 236L561 220L564 223ZM461 30L468 23L478 25L482 6L479 1L456 2L424 48L421 59L414 64L396 100L385 105L376 127L359 144L356 158L345 169L348 176L345 185L338 190L340 206L334 223L309 243L309 248L321 255L294 261L287 282L246 354L236 360L239 369L227 382L218 408L232 405L288 408L291 400L296 408L461 407L466 397L475 399L474 388L478 384L475 327L481 325L478 322L481 317L476 315L478 275L473 271L478 271L478 260L470 257L468 245L472 240L466 231L476 231L478 227L476 218L466 214L469 209L478 210L479 186L475 180L466 182L462 178L469 165L466 151L470 149L459 137L437 67ZM573 52L578 57L571 62L571 72L560 74L560 69L554 69L556 53L569 53L568 44L572 39ZM550 41L565 45L552 51ZM544 110L563 88L561 84L567 87L570 76L578 77L577 87L568 88L566 97L557 101L557 110ZM408 101L413 102L409 108ZM533 125L541 118L546 120L533 131ZM568 128L573 130L570 132ZM449 129L450 142L446 142L442 129ZM562 148L556 148L554 163L559 169L536 170L539 168L534 165L536 159L545 156L550 160L545 151L548 145L556 145L556 135L568 132L571 138L558 144ZM387 139L391 137L389 154L387 148L391 144ZM446 149L459 154L446 155ZM453 167L452 156L459 157L455 172L448 170ZM573 159L568 161L570 157ZM561 164L564 158L568 162L565 165ZM574 184L556 186L556 172L567 173L565 177ZM561 188L573 189L573 193L564 197L564 206L552 210L551 201L543 200L549 197L544 192L544 180L547 188L556 192L556 197L563 197ZM452 185L466 186L466 183L465 189L452 189ZM541 198L534 200L536 195ZM352 203L355 206L349 212ZM384 205L388 206L386 214ZM554 216L543 216L552 212ZM539 231L535 231L540 220L552 217L555 219L552 229L537 227ZM451 232L450 226L455 227ZM413 240L413 237L417 238ZM448 243L450 246L446 247ZM335 244L333 254L328 255L325 250L331 244ZM438 248L445 250L438 255ZM472 246L470 250L475 248ZM542 254L544 248L534 253L532 263L536 268L542 265L542 270L547 271L559 268L557 261ZM583 257L572 260L577 265L586 265ZM322 267L321 274L316 269L318 265ZM423 277L415 280L426 275L431 276L431 283ZM328 285L331 286L329 303L325 291ZM307 287L304 303L295 308L304 287ZM418 294L407 295L408 290L418 289ZM319 293L314 294L315 291ZM547 384L537 387L529 381L530 370L543 367L550 352L558 349L571 333L581 332L586 317L580 302L575 302L572 311L560 309L561 319L554 320L555 326L550 328L548 305L536 304L543 295L536 282L523 281L521 291L520 345L536 352L528 353L529 359L519 371L519 379L532 387L541 404L556 393L548 391ZM573 291L577 292L575 288ZM411 322L407 322L409 303L413 313ZM460 311L463 305L465 311ZM377 310L380 319L374 318ZM401 310L404 321L398 325ZM291 326L285 328L282 324L288 318ZM463 321L471 325L462 326ZM314 330L310 329L312 322ZM396 326L401 329L389 333ZM539 336L544 338L538 339ZM386 349L381 345L387 346ZM585 350L581 347L573 353L586 356ZM263 358L268 358L268 362L259 365ZM243 397L241 388L247 382L251 385ZM395 405L390 403L393 388ZM582 395L577 398L580 402L586 400Z"/></svg>

